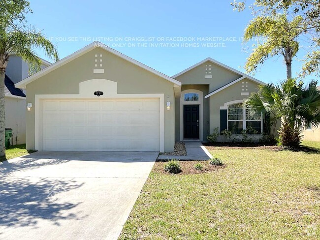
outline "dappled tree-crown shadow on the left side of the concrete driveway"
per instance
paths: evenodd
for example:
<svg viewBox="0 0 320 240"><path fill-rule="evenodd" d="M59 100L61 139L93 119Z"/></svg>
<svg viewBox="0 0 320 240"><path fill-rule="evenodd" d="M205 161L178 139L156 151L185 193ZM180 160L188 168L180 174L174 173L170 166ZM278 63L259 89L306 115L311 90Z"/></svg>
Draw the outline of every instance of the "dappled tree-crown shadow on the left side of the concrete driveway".
<svg viewBox="0 0 320 240"><path fill-rule="evenodd" d="M61 195L79 188L73 180L5 178L0 184L0 228L33 226L39 219L59 225L59 220L79 219L75 213L65 213L81 204L64 201ZM61 199L60 199L61 198Z"/></svg>

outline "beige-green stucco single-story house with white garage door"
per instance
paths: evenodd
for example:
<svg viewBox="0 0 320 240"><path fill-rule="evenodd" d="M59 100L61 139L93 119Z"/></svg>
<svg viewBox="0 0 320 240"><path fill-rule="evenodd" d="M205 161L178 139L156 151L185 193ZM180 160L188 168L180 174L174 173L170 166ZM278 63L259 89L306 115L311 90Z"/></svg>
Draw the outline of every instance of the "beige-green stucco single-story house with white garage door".
<svg viewBox="0 0 320 240"><path fill-rule="evenodd" d="M169 77L94 42L16 87L32 104L27 149L163 152L216 127L262 132L242 108L260 84L210 58Z"/></svg>

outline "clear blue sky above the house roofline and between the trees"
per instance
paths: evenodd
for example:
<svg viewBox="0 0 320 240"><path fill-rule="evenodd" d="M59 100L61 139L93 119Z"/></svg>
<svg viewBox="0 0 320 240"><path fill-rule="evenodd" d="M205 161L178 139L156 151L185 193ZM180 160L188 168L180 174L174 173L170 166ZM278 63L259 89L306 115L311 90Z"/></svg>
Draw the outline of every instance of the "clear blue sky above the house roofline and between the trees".
<svg viewBox="0 0 320 240"><path fill-rule="evenodd" d="M30 4L29 24L52 40L60 58L100 40L169 76L207 57L244 72L252 45L241 41L253 18L251 11L234 12L230 0L30 0ZM149 41L129 39L133 37ZM181 37L191 39L176 39ZM43 52L37 53L47 59ZM301 50L293 61L293 76L304 54ZM285 79L283 57L265 61L253 76L274 83Z"/></svg>

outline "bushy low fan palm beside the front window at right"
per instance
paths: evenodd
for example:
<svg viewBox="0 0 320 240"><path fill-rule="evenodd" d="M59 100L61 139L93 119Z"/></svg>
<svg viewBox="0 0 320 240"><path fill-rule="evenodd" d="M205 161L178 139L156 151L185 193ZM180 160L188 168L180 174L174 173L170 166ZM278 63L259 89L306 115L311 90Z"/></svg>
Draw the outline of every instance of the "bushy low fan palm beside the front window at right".
<svg viewBox="0 0 320 240"><path fill-rule="evenodd" d="M301 129L310 123L320 123L320 90L318 81L303 83L287 79L280 85L261 85L257 93L245 101L252 114L275 116L281 120L280 143L285 147L296 148L301 143Z"/></svg>

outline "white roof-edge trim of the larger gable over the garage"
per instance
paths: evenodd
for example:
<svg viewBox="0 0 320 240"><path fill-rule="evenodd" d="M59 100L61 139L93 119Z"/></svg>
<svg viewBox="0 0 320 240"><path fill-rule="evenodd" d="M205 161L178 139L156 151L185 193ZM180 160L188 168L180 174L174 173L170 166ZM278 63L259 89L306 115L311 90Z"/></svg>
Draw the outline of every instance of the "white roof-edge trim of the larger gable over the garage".
<svg viewBox="0 0 320 240"><path fill-rule="evenodd" d="M122 58L122 59L125 59L125 60L127 60L127 61L129 61L129 62L131 62L131 63L133 63L133 64L135 64L135 65L137 65L137 66L139 66L139 67L141 67L143 69L145 69L145 70L147 70L147 71L150 71L150 72L160 76L161 78L163 78L163 79L165 79L165 80L167 80L169 82L172 82L174 84L174 89L175 89L176 96L177 95L180 96L181 83L179 81L177 81L177 80L175 80L175 79L173 79L173 78L171 78L171 77L169 77L169 76L167 76L167 75L165 75L163 73L160 73L159 71L157 71L157 70L155 70L155 69L153 69L153 68L151 68L151 67L149 67L149 66L147 66L147 65L145 65L145 64L143 64L143 63L141 63L141 62L139 62L137 60L131 59L128 56L126 56L126 55L124 55L124 54L122 54L122 53L120 53L120 52L118 52L118 51L116 51L116 50L114 50L114 49L112 49L110 47L107 47L106 45L104 45L104 44L102 44L100 42L97 42L97 41L87 45L86 47L74 52L73 54L65 57L64 59L59 60L56 63L53 63L52 65L44 68L43 70L33 74L32 76L26 78L25 80L17 83L16 87L17 88L25 88L26 85L28 85L32 81L34 81L34 80L46 75L49 72L52 72L53 70L59 68L60 66L63 66L64 64L66 64L66 63L68 63L68 62L70 62L70 61L72 61L72 60L74 60L74 59L76 59L76 58L78 58L78 57L90 52L91 50L93 50L93 49L95 49L97 47L102 48L102 49L104 49L104 50L106 50L106 51L108 51L108 52L110 52L110 53Z"/></svg>

